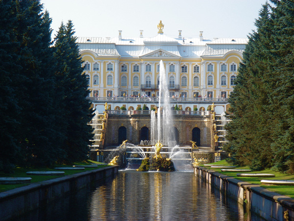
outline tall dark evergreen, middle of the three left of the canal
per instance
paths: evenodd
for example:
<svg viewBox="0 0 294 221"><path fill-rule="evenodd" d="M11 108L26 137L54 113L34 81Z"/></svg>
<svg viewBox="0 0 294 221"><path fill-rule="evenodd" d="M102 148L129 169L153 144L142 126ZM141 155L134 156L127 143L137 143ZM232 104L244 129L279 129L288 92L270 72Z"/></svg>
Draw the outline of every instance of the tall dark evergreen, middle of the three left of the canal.
<svg viewBox="0 0 294 221"><path fill-rule="evenodd" d="M19 104L23 157L27 165L50 166L58 156L52 145L54 131L54 66L51 45L51 19L42 12L39 0L17 0L15 27L22 66Z"/></svg>

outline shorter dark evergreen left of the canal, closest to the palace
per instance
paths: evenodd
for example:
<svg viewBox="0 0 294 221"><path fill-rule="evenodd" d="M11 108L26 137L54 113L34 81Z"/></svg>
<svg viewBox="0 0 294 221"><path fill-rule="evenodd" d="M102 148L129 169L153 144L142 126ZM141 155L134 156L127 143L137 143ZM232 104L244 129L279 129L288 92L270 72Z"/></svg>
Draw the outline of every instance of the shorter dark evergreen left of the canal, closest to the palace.
<svg viewBox="0 0 294 221"><path fill-rule="evenodd" d="M85 160L89 153L90 139L93 138L92 127L87 123L93 117L89 95L88 80L83 72L82 60L79 55L73 23L69 21L66 27L61 24L55 38L55 58L58 63L56 79L57 88L63 99L59 102L63 112L64 155L61 161Z"/></svg>

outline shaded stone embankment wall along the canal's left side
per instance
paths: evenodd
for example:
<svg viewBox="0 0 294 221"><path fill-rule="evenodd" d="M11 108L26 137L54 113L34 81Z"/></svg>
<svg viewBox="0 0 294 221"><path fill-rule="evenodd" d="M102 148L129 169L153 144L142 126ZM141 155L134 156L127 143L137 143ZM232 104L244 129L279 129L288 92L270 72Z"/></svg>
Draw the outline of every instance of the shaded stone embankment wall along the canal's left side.
<svg viewBox="0 0 294 221"><path fill-rule="evenodd" d="M106 178L114 177L118 171L118 166L108 166L2 192L0 193L0 220L5 221L20 217L22 214L45 206L65 194L74 193L91 184L97 184Z"/></svg>

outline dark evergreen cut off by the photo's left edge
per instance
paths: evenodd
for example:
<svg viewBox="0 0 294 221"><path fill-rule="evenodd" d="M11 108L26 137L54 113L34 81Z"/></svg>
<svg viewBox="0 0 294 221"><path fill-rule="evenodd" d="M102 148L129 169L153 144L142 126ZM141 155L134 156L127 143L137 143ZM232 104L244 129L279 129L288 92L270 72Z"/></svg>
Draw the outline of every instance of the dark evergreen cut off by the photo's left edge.
<svg viewBox="0 0 294 221"><path fill-rule="evenodd" d="M21 159L17 142L20 107L17 84L21 67L16 62L19 47L14 26L16 24L14 0L0 1L0 171L12 172Z"/></svg>

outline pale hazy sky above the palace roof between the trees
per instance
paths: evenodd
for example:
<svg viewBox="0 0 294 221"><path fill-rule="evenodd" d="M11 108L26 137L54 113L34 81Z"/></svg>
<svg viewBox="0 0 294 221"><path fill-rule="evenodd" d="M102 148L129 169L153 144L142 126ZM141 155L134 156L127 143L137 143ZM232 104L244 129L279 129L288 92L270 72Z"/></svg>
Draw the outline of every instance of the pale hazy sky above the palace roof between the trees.
<svg viewBox="0 0 294 221"><path fill-rule="evenodd" d="M52 18L52 37L61 22L73 21L77 37L157 35L162 21L169 37L245 38L255 29L266 0L41 0Z"/></svg>

